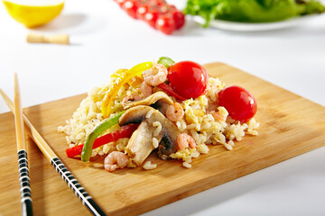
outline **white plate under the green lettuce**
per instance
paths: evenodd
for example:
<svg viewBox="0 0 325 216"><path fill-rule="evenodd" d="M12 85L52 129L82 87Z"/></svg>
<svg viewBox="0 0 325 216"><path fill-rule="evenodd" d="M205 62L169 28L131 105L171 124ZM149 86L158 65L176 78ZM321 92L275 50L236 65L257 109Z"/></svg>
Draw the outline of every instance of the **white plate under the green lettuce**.
<svg viewBox="0 0 325 216"><path fill-rule="evenodd" d="M305 23L310 21L315 16L317 15L305 15L302 17L273 23L240 23L223 20L211 20L209 27L228 31L271 31L285 29ZM193 16L193 20L200 24L205 23L205 20L200 16Z"/></svg>

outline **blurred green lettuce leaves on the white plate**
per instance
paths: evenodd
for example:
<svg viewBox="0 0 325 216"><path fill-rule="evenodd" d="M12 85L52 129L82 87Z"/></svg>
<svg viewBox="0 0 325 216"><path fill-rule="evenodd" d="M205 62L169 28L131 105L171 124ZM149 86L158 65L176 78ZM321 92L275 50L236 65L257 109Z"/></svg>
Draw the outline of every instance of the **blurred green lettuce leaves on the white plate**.
<svg viewBox="0 0 325 216"><path fill-rule="evenodd" d="M213 19L269 23L324 12L325 6L314 0L188 0L184 9L184 14L204 18L205 26Z"/></svg>

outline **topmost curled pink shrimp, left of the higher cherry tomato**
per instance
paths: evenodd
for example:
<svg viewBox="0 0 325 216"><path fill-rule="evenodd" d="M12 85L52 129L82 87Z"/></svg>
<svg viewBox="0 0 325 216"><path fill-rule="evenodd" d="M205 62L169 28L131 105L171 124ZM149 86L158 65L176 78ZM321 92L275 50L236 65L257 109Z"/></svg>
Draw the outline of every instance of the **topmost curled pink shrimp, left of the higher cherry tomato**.
<svg viewBox="0 0 325 216"><path fill-rule="evenodd" d="M167 79L168 70L162 64L155 64L151 69L144 70L144 82L148 85L160 85Z"/></svg>

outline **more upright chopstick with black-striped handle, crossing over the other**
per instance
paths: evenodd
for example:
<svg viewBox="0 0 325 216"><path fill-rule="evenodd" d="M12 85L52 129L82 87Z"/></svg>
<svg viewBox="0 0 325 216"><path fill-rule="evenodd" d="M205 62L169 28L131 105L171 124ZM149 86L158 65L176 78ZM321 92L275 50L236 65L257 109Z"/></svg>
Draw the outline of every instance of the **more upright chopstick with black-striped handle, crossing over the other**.
<svg viewBox="0 0 325 216"><path fill-rule="evenodd" d="M18 172L23 215L32 215L32 194L29 177L27 151L23 133L23 111L21 106L17 74L14 74L14 124L16 131Z"/></svg>

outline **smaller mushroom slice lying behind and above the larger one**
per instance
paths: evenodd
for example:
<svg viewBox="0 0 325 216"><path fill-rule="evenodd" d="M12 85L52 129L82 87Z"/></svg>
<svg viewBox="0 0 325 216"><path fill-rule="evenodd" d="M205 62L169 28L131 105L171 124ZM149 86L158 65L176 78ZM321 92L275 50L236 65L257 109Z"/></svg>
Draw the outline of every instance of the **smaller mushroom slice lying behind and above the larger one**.
<svg viewBox="0 0 325 216"><path fill-rule="evenodd" d="M157 109L163 114L165 114L168 106L172 103L173 102L171 97L169 97L167 94L165 94L164 92L156 92L142 100L127 103L125 108L127 109L138 105L147 105L152 106L154 109Z"/></svg>

